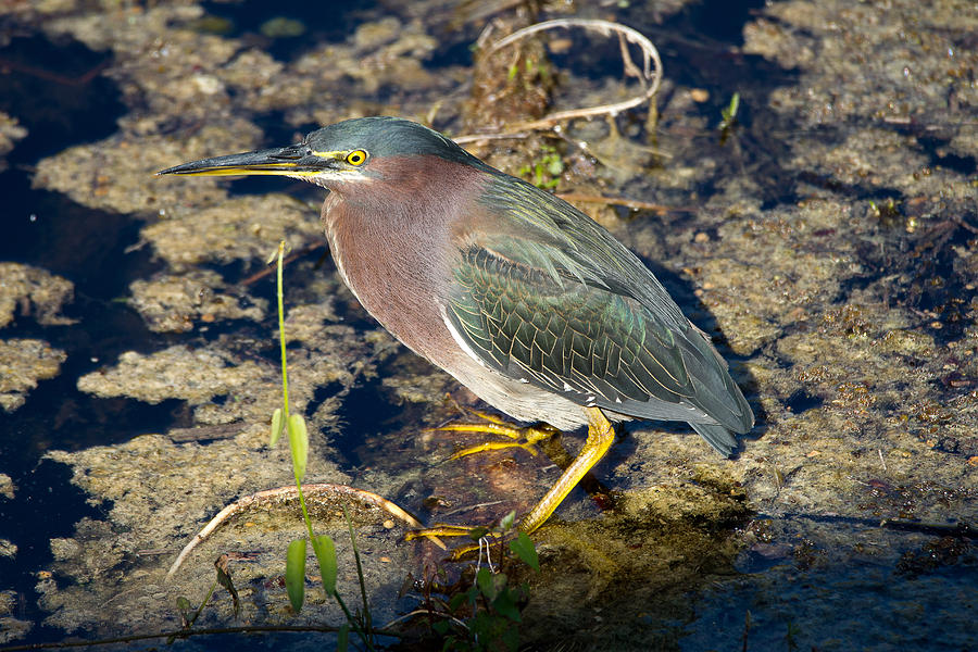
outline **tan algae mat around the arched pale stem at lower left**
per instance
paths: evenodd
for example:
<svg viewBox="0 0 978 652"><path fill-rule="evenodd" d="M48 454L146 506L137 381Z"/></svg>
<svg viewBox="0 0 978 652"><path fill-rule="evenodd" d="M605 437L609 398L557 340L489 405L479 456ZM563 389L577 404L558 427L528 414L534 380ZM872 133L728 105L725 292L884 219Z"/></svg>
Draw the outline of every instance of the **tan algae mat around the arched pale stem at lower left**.
<svg viewBox="0 0 978 652"><path fill-rule="evenodd" d="M348 481L328 460L327 450L313 447L310 452L308 482ZM54 451L50 456L72 467L73 481L93 503L109 501L105 504L111 507L105 521L83 519L73 537L52 539L54 561L48 576L82 581L66 587L47 579L38 582L40 604L51 614L46 624L105 635L178 627L179 615L172 607L176 598L202 599L213 578L213 562L223 553L233 560L241 617L291 625L342 619L315 581L308 589L303 615L297 616L287 607L284 586L275 579L280 577L288 542L304 534L294 500L254 503L200 543L176 575L164 580L180 548L225 504L260 489L293 482L290 456L283 443L269 451L241 437L202 446L146 435L120 446L76 453ZM399 581L392 578L413 566L412 548L397 544L403 536L401 527L391 529L383 524L389 514L361 506L355 496L347 492L340 500L330 501L326 494L310 498L316 532L329 534L337 541L339 590L343 595L359 591L341 505L348 506L354 519L367 589L391 590L388 585ZM125 591L127 599L112 600L120 591ZM377 617L392 617L387 605L374 609ZM222 592L201 623L217 624L233 617L230 600Z"/></svg>

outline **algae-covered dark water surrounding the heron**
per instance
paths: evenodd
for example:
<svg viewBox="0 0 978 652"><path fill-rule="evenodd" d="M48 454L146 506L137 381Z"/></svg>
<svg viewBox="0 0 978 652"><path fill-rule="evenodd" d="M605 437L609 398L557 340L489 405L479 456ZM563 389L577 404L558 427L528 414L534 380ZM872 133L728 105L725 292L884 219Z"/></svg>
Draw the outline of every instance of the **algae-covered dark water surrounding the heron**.
<svg viewBox="0 0 978 652"><path fill-rule="evenodd" d="M222 552L250 556L234 565L244 615L236 622L218 597L201 625L340 622L322 600L288 613L279 579L301 536L293 506L243 515L162 581L217 511L292 481L285 447L265 446L280 397L272 276L255 277L280 239L299 252L286 294L309 480L378 493L425 522L529 509L557 477L546 455L444 463L473 439L426 428L471 397L379 329L321 260L317 189L152 173L352 115L434 115L461 135L541 106L617 101L617 45L557 33L569 43L553 48L546 105L513 92L500 105L526 113L499 115L466 104L512 90L492 62L473 65L487 17L472 7L63 4L0 10L15 35L0 42L0 643L177 627L176 597L200 599ZM974 8L577 12L656 43L657 121L641 108L614 130L575 121L566 138L474 151L518 174L552 147L557 191L664 206L581 204L714 337L757 426L730 461L685 426L627 426L594 468L603 491L575 490L534 536L543 569L525 574L523 641L978 647ZM737 123L722 130L735 92ZM563 438L572 451L581 441ZM384 622L416 605L398 595L403 579L440 553L360 506ZM318 527L355 595L337 510L326 501ZM177 644L333 644L279 636Z"/></svg>

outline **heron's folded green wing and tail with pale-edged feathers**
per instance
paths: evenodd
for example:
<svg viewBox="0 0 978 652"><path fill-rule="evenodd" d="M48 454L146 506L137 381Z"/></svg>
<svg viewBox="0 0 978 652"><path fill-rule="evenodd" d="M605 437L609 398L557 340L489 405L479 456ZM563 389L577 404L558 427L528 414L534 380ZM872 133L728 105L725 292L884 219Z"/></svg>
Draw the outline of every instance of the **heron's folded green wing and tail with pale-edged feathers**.
<svg viewBox="0 0 978 652"><path fill-rule="evenodd" d="M460 243L448 312L482 362L581 405L701 424L705 413L717 425L704 437L729 452L729 435L714 440L725 428L745 432L753 414L641 261L528 184L493 179L482 202L492 220Z"/></svg>

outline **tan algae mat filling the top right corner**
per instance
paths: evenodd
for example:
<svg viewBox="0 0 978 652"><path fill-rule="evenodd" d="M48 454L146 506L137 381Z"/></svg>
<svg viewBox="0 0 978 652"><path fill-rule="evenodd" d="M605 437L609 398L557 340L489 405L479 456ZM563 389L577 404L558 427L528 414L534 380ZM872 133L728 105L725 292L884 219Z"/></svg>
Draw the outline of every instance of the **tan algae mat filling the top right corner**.
<svg viewBox="0 0 978 652"><path fill-rule="evenodd" d="M919 9L910 0L885 12L838 0L782 2L744 27L743 49L805 71L800 84L775 91L772 105L808 126L860 116L931 123L949 117L949 91L978 103L962 74L978 64L964 46L976 24L965 2Z"/></svg>

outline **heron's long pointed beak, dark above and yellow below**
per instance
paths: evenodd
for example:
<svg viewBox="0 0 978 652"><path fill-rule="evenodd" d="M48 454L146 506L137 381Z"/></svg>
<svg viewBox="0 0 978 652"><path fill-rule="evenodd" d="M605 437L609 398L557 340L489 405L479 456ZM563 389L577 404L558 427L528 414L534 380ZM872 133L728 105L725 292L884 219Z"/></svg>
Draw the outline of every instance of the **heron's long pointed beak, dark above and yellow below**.
<svg viewBox="0 0 978 652"><path fill-rule="evenodd" d="M290 145L227 156L191 161L161 170L161 174L192 176L277 175L306 177L335 170L335 161L317 156L301 145Z"/></svg>

